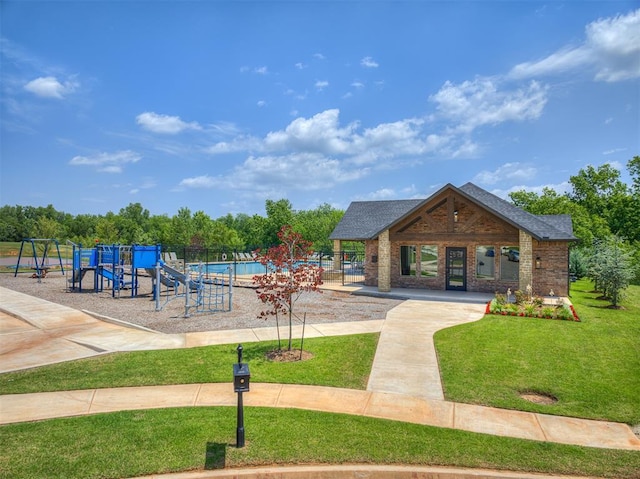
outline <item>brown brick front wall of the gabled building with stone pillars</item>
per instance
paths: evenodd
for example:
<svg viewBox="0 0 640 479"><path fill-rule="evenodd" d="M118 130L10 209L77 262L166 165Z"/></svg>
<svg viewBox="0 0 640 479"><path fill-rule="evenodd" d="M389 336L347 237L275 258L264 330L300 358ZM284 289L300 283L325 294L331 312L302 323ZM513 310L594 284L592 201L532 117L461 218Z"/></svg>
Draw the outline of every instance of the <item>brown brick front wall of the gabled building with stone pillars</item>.
<svg viewBox="0 0 640 479"><path fill-rule="evenodd" d="M454 214L457 212L457 215ZM457 221L456 221L457 216ZM389 271L391 287L427 288L444 290L446 287L446 248L464 247L467 250L466 283L468 291L494 293L526 289L532 284L534 292L547 295L551 289L557 295L567 294L568 245L557 242L538 242L502 219L488 213L474 203L451 192L434 198L412 217L406 218L389 231L390 247L379 248L378 241L365 244L365 284L380 286L381 272ZM400 247L437 245L438 275L436 277L403 276L400 268ZM476 275L476 248L493 246L495 256L494 277L479 278ZM501 248L519 246L520 261L506 263ZM383 251L384 250L384 251ZM390 270L380 268L381 260L387 261ZM377 263L373 258L377 257ZM542 267L535 268L535 258L542 258ZM485 261L487 258L483 258ZM501 263L502 260L502 263ZM384 263L383 263L384 264ZM501 264L517 268L516 280L501 278ZM385 285L387 279L383 278Z"/></svg>

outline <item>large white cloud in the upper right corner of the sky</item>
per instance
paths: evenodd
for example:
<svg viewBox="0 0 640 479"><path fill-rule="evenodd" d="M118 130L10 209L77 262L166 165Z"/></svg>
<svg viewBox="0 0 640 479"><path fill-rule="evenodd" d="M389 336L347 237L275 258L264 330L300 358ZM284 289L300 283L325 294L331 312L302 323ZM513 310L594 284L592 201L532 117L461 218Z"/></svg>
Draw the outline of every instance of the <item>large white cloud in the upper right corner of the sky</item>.
<svg viewBox="0 0 640 479"><path fill-rule="evenodd" d="M585 40L539 61L516 65L512 78L532 78L588 68L594 79L616 82L640 78L640 9L596 20L585 28Z"/></svg>

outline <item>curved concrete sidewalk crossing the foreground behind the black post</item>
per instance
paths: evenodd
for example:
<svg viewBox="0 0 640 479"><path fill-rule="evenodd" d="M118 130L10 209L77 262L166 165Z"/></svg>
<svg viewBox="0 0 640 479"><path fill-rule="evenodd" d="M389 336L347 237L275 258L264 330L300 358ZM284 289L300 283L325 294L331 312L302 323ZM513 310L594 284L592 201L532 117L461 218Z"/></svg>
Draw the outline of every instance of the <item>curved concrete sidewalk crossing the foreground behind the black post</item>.
<svg viewBox="0 0 640 479"><path fill-rule="evenodd" d="M88 389L0 396L0 423L166 407L235 406L230 383ZM534 441L640 451L624 424L318 386L252 384L245 406L354 414Z"/></svg>

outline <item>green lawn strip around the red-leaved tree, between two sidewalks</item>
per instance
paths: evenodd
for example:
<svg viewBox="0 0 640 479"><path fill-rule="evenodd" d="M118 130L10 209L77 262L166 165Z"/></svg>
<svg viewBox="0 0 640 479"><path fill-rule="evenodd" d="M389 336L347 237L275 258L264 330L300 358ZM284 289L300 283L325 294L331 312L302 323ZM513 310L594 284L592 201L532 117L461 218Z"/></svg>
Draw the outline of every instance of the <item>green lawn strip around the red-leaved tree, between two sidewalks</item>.
<svg viewBox="0 0 640 479"><path fill-rule="evenodd" d="M304 349L314 357L293 363L265 359L276 342L245 343L243 360L249 363L252 379L259 382L365 389L378 337L306 339ZM0 374L0 394L230 382L237 360L236 345L109 354Z"/></svg>

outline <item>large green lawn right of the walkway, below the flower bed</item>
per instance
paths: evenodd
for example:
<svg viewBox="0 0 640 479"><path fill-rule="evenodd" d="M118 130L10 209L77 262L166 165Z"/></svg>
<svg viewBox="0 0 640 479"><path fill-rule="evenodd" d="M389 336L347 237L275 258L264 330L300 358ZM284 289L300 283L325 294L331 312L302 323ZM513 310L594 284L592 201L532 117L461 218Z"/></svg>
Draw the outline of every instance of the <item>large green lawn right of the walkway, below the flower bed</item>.
<svg viewBox="0 0 640 479"><path fill-rule="evenodd" d="M581 322L485 316L435 335L451 401L640 424L640 287L622 310L572 287ZM536 405L521 392L555 396Z"/></svg>

